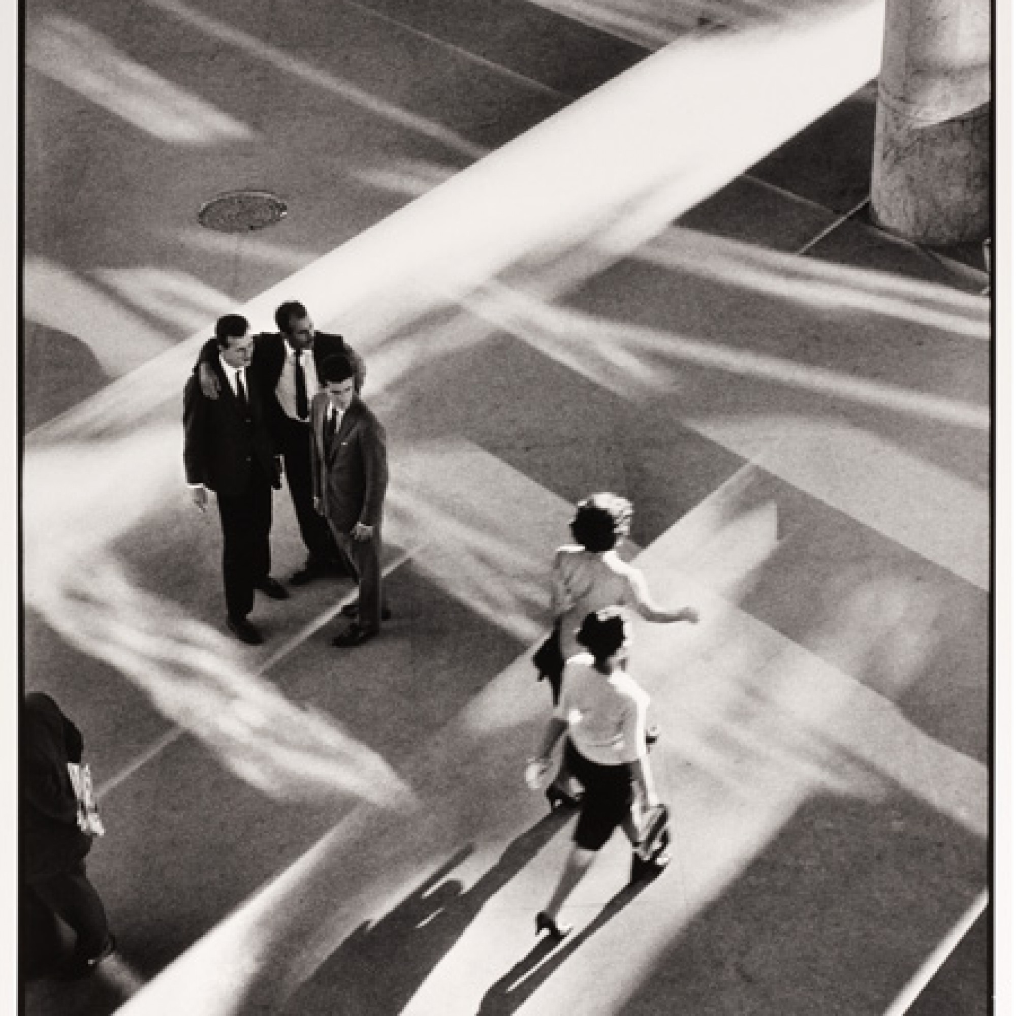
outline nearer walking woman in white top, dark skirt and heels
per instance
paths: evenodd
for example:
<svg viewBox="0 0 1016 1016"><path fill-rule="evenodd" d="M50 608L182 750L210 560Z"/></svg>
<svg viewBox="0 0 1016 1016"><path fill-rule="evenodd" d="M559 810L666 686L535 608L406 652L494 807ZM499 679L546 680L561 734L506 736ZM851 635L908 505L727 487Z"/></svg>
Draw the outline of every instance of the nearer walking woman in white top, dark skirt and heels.
<svg viewBox="0 0 1016 1016"><path fill-rule="evenodd" d="M625 671L629 628L618 608L589 614L582 622L577 641L588 651L565 665L561 700L533 760L541 769L550 766L554 746L567 732L565 764L585 790L565 870L551 901L536 914L537 935L546 931L562 939L568 934L570 929L557 923L558 912L619 825L635 851L633 879L666 864L665 858L649 862L639 853L632 814L633 786L644 810L659 802L645 745L649 696Z"/></svg>

